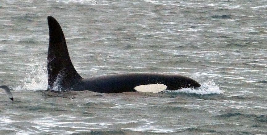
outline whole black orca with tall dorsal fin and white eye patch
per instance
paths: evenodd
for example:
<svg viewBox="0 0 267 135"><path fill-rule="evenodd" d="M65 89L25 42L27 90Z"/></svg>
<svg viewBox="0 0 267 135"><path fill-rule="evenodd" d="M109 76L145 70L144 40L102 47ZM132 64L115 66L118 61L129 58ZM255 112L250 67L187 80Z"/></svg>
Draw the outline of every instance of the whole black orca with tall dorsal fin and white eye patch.
<svg viewBox="0 0 267 135"><path fill-rule="evenodd" d="M49 47L47 57L48 91L95 91L121 93L127 91L161 92L200 84L186 76L159 73L122 73L84 79L75 70L63 31L55 18L48 16Z"/></svg>

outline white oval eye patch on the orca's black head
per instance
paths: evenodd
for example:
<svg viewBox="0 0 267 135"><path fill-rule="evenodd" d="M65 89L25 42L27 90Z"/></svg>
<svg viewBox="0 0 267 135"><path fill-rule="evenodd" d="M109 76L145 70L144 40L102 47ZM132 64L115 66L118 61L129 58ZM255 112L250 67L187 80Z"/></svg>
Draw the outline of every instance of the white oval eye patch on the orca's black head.
<svg viewBox="0 0 267 135"><path fill-rule="evenodd" d="M159 93L167 88L164 84L145 84L134 87L136 91Z"/></svg>

